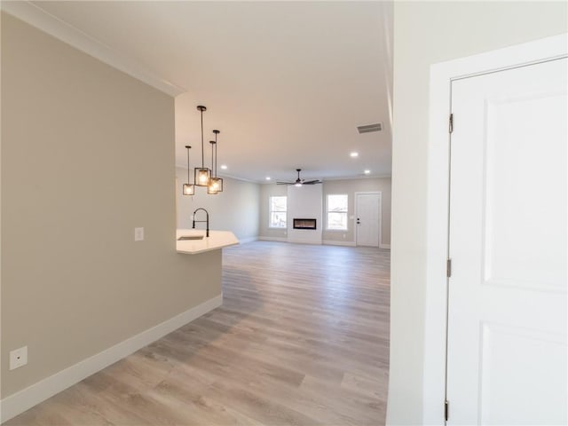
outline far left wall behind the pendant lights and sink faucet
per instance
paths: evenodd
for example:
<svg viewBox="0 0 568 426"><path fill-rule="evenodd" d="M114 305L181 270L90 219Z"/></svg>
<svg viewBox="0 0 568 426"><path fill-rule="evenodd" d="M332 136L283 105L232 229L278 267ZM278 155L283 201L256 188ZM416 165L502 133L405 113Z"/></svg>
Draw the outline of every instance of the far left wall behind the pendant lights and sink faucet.
<svg viewBox="0 0 568 426"><path fill-rule="evenodd" d="M192 179L193 179L193 170ZM193 211L209 211L209 229L232 231L240 241L258 238L260 185L231 177L223 177L223 192L209 195L207 188L196 186L195 195L183 195L187 168L176 169L177 227L191 228ZM203 212L198 213L198 215ZM204 217L198 216L201 220ZM197 224L202 228L205 224Z"/></svg>

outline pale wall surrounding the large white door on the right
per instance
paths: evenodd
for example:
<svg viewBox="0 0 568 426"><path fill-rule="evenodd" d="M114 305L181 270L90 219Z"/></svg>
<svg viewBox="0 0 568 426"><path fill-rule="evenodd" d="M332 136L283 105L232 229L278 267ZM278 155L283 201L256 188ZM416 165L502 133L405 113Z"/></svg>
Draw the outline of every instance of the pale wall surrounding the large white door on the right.
<svg viewBox="0 0 568 426"><path fill-rule="evenodd" d="M389 424L422 424L430 65L560 34L567 13L564 2L395 3Z"/></svg>

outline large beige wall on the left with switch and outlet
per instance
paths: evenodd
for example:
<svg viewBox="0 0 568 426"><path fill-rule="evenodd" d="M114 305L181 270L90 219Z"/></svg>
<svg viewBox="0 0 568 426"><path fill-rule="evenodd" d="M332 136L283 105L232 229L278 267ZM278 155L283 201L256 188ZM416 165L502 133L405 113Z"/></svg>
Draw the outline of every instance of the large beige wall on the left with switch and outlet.
<svg viewBox="0 0 568 426"><path fill-rule="evenodd" d="M219 295L221 254L175 251L172 98L3 13L1 100L6 398Z"/></svg>

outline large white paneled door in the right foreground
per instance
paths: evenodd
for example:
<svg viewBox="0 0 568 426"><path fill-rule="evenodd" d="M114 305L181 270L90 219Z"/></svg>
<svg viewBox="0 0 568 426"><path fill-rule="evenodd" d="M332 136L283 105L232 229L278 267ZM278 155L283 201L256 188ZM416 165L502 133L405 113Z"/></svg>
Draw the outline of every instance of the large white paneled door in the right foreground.
<svg viewBox="0 0 568 426"><path fill-rule="evenodd" d="M566 59L452 83L448 424L566 424Z"/></svg>

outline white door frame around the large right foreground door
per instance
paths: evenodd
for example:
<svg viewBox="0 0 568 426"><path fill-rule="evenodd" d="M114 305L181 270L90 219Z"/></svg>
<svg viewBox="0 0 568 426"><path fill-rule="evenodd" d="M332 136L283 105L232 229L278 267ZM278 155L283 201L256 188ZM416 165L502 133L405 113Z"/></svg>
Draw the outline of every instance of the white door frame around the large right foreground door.
<svg viewBox="0 0 568 426"><path fill-rule="evenodd" d="M451 83L568 56L568 33L430 66L422 423L444 424Z"/></svg>

